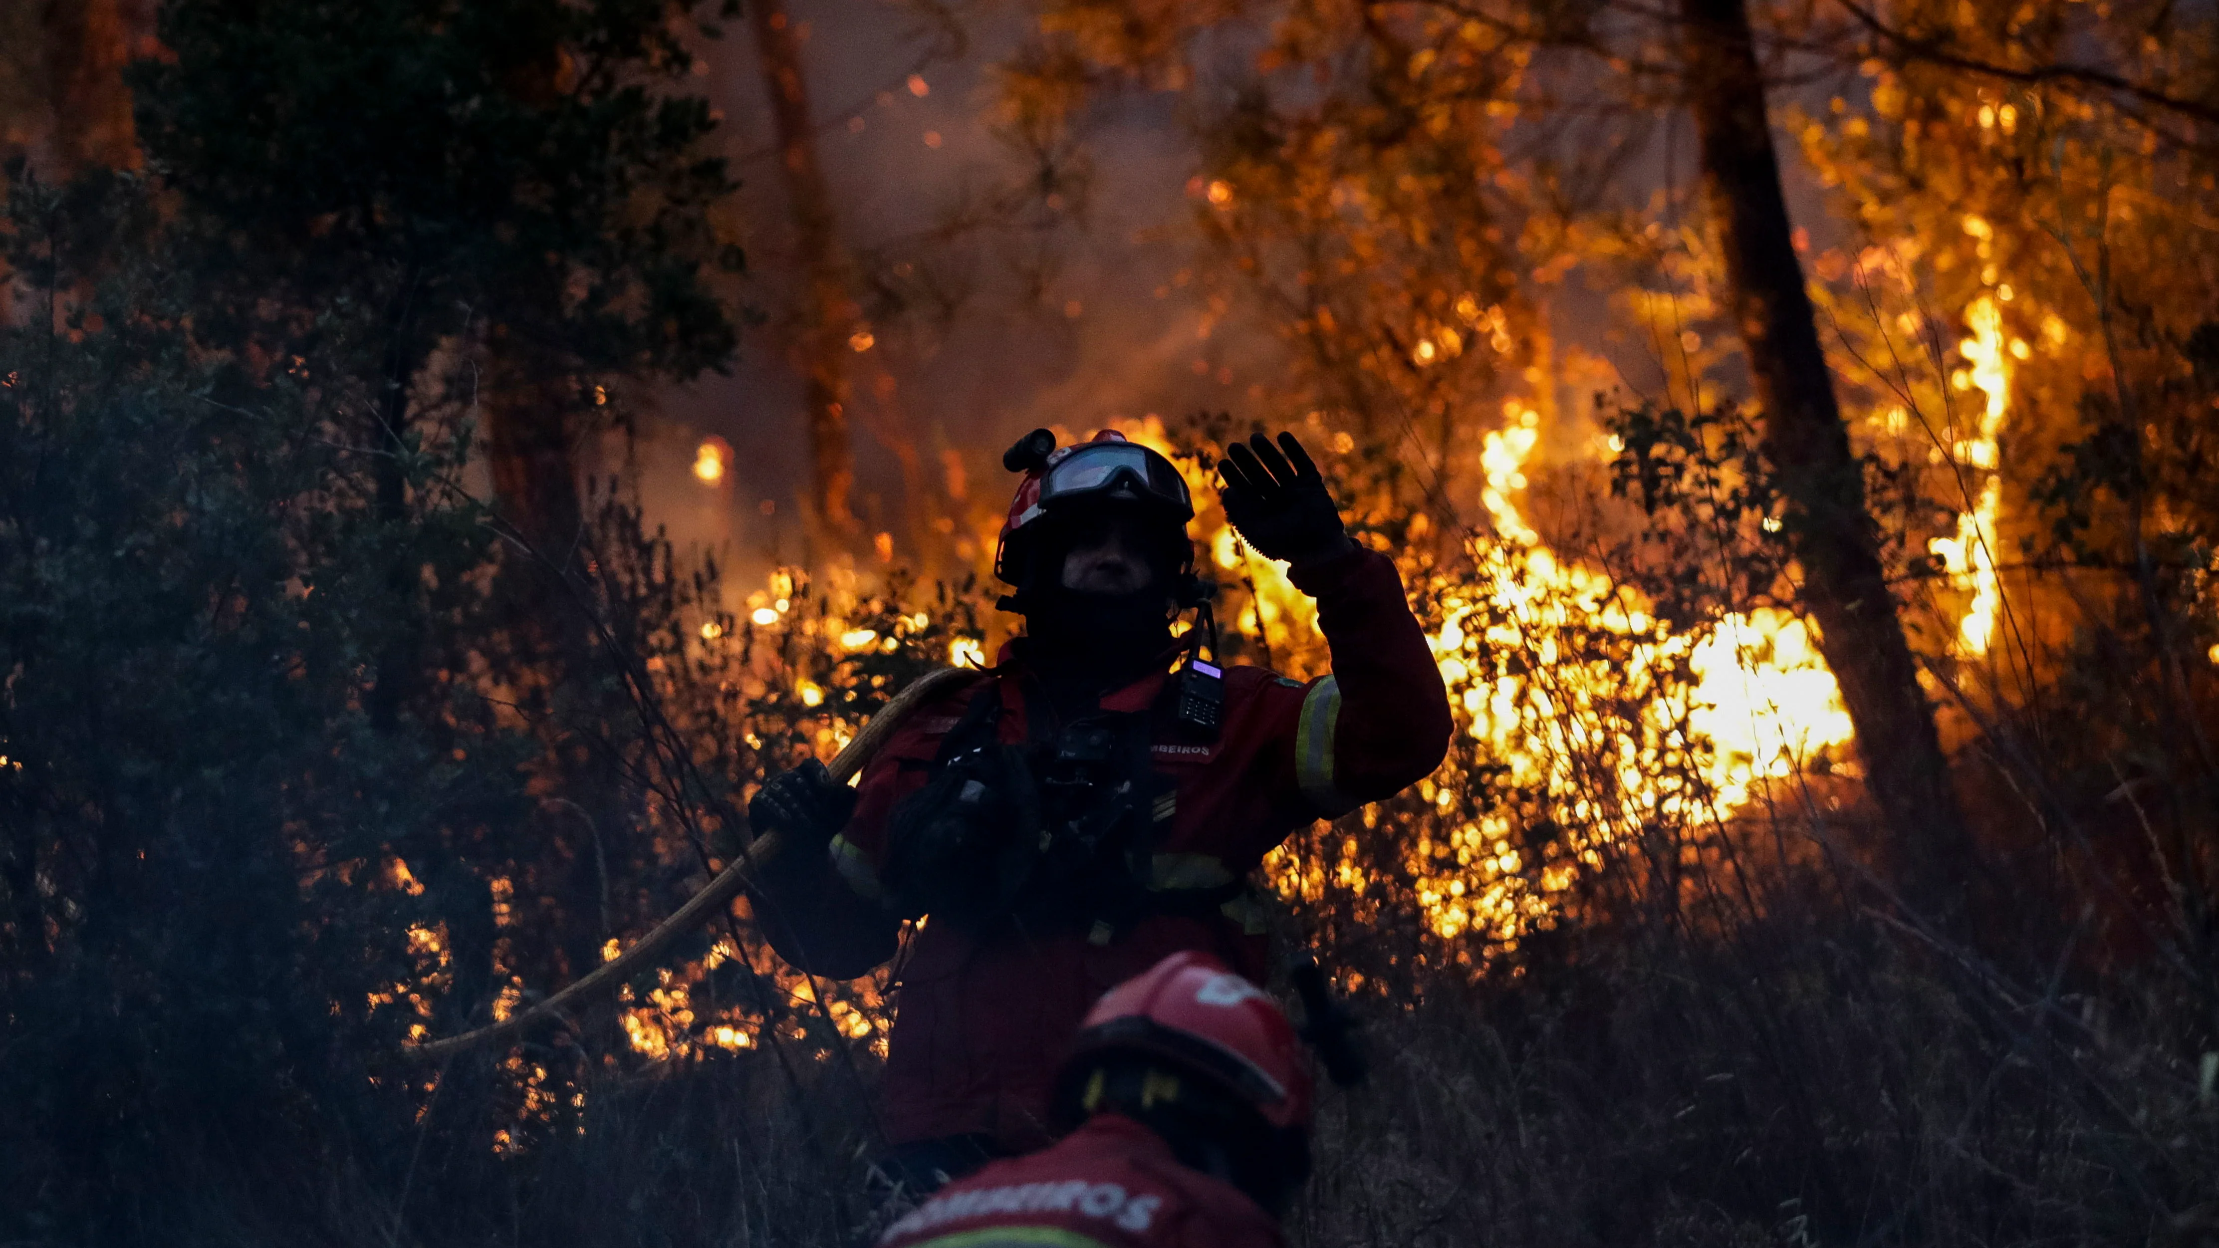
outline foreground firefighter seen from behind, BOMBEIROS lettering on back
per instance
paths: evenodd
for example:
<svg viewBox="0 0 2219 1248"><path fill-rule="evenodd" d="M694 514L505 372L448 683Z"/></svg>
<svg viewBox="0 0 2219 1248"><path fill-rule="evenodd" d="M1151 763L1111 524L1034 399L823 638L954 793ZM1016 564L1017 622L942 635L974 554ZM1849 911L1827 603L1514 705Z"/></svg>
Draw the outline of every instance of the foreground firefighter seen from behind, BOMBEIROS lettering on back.
<svg viewBox="0 0 2219 1248"><path fill-rule="evenodd" d="M1056 1086L1058 1119L1085 1121L948 1186L879 1248L1278 1248L1309 1104L1278 1004L1174 953L1087 1015Z"/></svg>

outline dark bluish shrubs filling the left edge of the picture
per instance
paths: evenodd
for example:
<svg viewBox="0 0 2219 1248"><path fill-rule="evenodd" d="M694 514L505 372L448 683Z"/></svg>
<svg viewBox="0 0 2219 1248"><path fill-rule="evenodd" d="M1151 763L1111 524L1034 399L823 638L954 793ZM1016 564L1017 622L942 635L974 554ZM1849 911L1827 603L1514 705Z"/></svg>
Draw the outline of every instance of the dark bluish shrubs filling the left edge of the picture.
<svg viewBox="0 0 2219 1248"><path fill-rule="evenodd" d="M362 395L324 382L346 338L262 378L200 351L142 187L104 191L18 178L7 207L16 293L55 315L0 331L0 1166L16 1237L133 1241L202 1166L406 1121L366 1061L406 1035L391 990L442 897L379 884L513 826L526 742L466 684L411 733L362 711L404 615L484 626L493 531L437 489L455 444L404 457L424 502L379 517L342 442ZM104 269L87 235L122 242ZM399 553L419 602L386 591Z"/></svg>

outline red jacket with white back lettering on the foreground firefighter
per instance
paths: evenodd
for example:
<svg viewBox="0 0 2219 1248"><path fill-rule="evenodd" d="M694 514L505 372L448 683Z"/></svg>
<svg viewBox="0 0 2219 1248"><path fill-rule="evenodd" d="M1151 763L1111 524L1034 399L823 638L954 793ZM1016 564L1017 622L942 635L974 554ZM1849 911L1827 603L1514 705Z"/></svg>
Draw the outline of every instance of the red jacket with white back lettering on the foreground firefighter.
<svg viewBox="0 0 2219 1248"><path fill-rule="evenodd" d="M1278 1221L1189 1170L1145 1126L1096 1115L1054 1148L994 1161L916 1206L879 1248L1280 1248Z"/></svg>

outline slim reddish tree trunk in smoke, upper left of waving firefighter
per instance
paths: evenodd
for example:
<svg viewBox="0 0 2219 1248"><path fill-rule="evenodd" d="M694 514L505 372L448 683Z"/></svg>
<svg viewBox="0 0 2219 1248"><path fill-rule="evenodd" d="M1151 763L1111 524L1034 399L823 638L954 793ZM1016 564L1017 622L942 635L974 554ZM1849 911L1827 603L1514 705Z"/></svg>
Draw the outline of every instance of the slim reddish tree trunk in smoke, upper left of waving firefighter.
<svg viewBox="0 0 2219 1248"><path fill-rule="evenodd" d="M810 431L810 486L814 491L817 540L845 546L854 537L854 453L848 446L848 338L857 306L850 295L848 258L839 246L832 191L817 162L808 80L801 76L801 40L786 13L786 0L748 4L754 47L770 91L770 120L779 140L779 169L794 213L794 251L801 260L801 315L792 360L801 373Z"/></svg>

